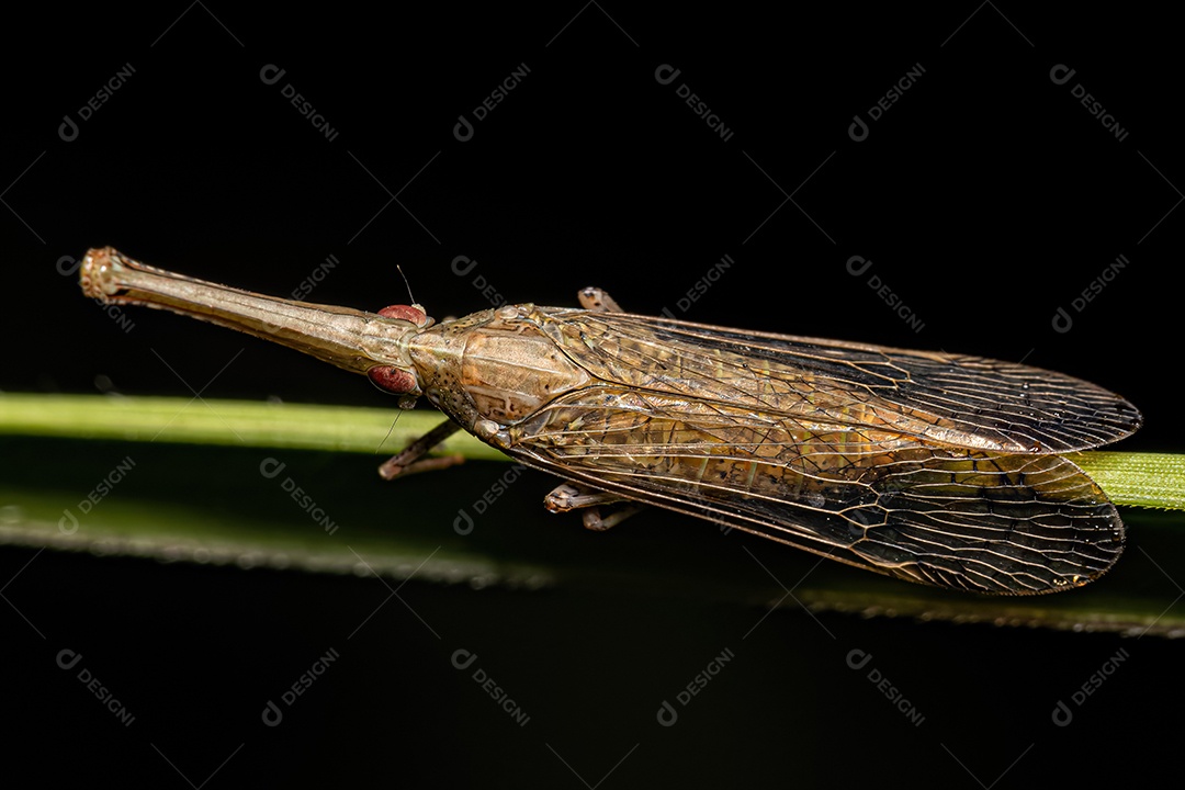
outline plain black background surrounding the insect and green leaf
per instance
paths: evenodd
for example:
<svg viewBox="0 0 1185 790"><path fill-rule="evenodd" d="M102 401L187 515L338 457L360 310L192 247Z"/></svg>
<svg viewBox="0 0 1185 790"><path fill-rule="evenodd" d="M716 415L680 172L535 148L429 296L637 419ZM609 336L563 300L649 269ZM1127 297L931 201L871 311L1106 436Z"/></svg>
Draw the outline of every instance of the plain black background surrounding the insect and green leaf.
<svg viewBox="0 0 1185 790"><path fill-rule="evenodd" d="M0 54L5 390L391 405L360 378L175 316L130 309L123 332L72 274L89 246L111 244L284 295L333 255L340 264L310 301L406 302L398 265L437 317L489 307L480 276L507 302L572 304L596 284L638 313L1024 359L1136 403L1146 426L1125 449L1180 449L1185 169L1167 12L32 13ZM1059 64L1075 70L1061 85L1050 77ZM261 79L269 65L283 70L275 84ZM679 70L671 84L655 78L662 65ZM918 65L916 84L870 121ZM1125 139L1072 96L1080 83ZM728 140L680 99L684 84ZM461 115L474 124L467 141L454 135ZM860 142L848 135L856 115L870 127ZM65 116L77 124L69 141ZM732 266L684 309L725 255ZM1127 268L1077 310L1120 255ZM457 256L478 264L459 276ZM852 256L872 268L851 275ZM1069 332L1053 329L1059 307ZM607 571L592 591L538 596L411 583L416 615L446 638L392 603L347 643L385 595L372 580L49 553L17 577L33 552L0 558L20 610L0 611L4 718L19 731L6 751L52 783L1003 788L1151 776L1179 741L1161 721L1178 718L1185 654L1166 641L816 621L793 606L745 637L761 610L626 595ZM55 666L63 646L118 691L133 726ZM512 691L527 726L450 666L459 646ZM264 727L263 702L329 647L348 669ZM660 727L659 704L725 647L736 659L677 726ZM852 648L908 691L921 727L845 664ZM1072 726L1053 726L1057 700L1121 649L1130 669L1076 708Z"/></svg>

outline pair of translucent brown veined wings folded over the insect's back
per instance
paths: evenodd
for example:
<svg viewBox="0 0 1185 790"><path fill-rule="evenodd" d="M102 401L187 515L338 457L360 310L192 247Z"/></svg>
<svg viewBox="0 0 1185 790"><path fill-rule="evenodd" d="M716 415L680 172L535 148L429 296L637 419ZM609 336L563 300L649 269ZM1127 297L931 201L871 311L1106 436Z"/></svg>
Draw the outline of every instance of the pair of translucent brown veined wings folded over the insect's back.
<svg viewBox="0 0 1185 790"><path fill-rule="evenodd" d="M533 465L960 590L1076 586L1122 551L1114 506L1051 454L1139 424L1130 404L1095 385L978 358L643 316L537 320L598 384L511 429L512 454Z"/></svg>

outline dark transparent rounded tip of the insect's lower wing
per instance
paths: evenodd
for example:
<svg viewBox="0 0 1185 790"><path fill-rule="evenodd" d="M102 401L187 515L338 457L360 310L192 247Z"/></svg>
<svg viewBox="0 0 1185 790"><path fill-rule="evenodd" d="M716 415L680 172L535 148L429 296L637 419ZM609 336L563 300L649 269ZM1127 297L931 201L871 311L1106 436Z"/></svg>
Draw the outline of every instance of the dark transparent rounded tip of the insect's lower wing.
<svg viewBox="0 0 1185 790"><path fill-rule="evenodd" d="M999 484L971 489L988 464ZM1115 506L1059 456L935 460L911 482L882 494L879 503L896 518L880 534L870 531L867 545L852 547L897 578L988 595L1042 595L1097 579L1123 552Z"/></svg>

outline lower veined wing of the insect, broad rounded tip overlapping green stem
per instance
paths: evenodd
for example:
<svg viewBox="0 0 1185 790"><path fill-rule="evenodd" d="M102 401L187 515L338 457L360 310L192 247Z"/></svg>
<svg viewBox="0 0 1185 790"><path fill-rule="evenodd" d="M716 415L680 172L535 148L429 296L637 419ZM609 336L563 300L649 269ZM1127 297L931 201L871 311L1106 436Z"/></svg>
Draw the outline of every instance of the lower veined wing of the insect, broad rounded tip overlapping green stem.
<svg viewBox="0 0 1185 790"><path fill-rule="evenodd" d="M531 465L910 582L1053 592L1123 548L1114 506L1056 455L924 447L613 386L566 393L510 436Z"/></svg>

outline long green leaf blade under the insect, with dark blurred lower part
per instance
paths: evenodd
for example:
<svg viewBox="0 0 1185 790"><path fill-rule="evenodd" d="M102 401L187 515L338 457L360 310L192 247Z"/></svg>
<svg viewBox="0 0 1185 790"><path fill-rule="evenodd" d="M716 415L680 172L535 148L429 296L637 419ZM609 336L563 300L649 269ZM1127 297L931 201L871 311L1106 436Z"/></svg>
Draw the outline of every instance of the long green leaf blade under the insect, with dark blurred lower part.
<svg viewBox="0 0 1185 790"><path fill-rule="evenodd" d="M435 412L239 402L0 396L0 542L474 587L568 586L803 605L948 622L1185 634L1174 576L1180 514L1125 510L1129 547L1072 592L988 598L821 561L770 541L649 510L609 533L542 508L547 475L508 463L384 482L378 463ZM390 431L390 436L387 436ZM379 448L383 449L379 449ZM443 448L506 457L455 435ZM1178 456L1078 454L1117 503L1179 503Z"/></svg>

